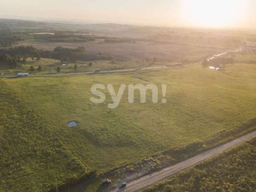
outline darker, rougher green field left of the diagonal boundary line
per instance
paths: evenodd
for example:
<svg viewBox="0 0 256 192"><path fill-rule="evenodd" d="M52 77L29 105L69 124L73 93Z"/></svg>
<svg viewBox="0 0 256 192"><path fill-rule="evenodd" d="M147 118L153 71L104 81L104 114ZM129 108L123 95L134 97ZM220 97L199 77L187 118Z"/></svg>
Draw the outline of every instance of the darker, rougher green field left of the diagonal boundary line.
<svg viewBox="0 0 256 192"><path fill-rule="evenodd" d="M2 80L0 88L0 191L49 191L84 178L90 168Z"/></svg>

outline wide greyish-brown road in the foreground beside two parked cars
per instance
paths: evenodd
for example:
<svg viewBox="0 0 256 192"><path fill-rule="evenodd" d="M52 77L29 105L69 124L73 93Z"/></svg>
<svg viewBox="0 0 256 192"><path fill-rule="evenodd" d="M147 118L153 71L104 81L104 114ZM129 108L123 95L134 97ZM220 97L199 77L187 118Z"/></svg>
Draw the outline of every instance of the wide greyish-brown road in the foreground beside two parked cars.
<svg viewBox="0 0 256 192"><path fill-rule="evenodd" d="M169 178L170 176L180 172L181 170L187 169L191 166L195 166L196 164L202 162L203 160L206 160L216 154L220 154L224 150L227 150L234 146L237 146L238 144L241 144L242 142L249 140L249 139L253 138L254 136L256 136L256 131L246 134L244 136L241 136L241 137L239 137L235 140L232 140L226 144L222 144L222 145L215 147L211 150L202 152L192 158L189 158L188 160L185 160L185 161L175 164L173 166L164 168L158 172L144 176L138 180L134 180L130 183L127 183L127 186L123 189L115 188L113 190L110 190L109 192L121 192L121 191L122 192L137 192L139 190L143 190L145 188L148 188L149 186L156 184L157 182L160 182L162 180L165 180L166 178Z"/></svg>

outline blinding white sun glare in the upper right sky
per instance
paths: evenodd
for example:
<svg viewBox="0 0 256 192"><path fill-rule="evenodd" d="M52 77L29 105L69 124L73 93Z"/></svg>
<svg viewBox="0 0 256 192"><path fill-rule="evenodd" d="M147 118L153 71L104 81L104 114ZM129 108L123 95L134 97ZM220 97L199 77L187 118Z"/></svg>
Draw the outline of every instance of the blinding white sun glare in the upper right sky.
<svg viewBox="0 0 256 192"><path fill-rule="evenodd" d="M235 26L242 21L246 8L246 0L183 0L184 19L201 27Z"/></svg>

